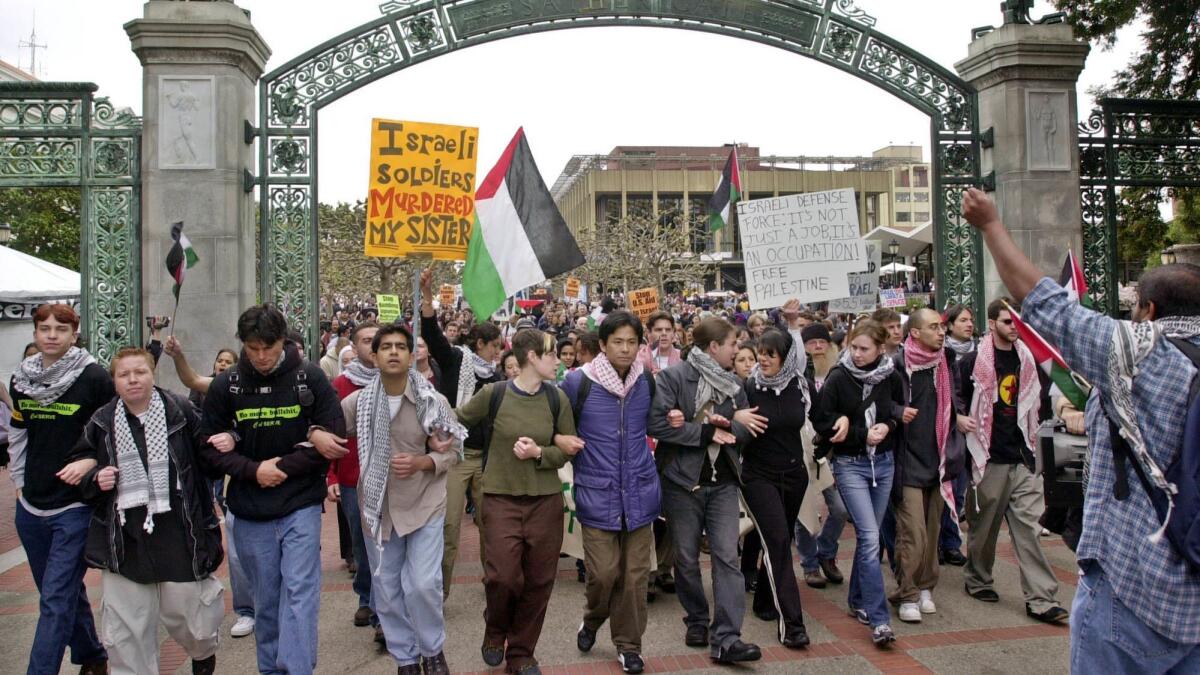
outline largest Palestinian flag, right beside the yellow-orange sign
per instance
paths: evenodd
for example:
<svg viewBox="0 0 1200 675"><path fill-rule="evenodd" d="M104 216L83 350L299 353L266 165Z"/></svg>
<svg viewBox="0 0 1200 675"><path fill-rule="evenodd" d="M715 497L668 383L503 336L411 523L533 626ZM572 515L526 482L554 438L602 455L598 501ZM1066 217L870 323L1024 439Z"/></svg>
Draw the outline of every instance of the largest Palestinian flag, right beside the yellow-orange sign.
<svg viewBox="0 0 1200 675"><path fill-rule="evenodd" d="M583 264L583 253L538 173L524 130L505 148L475 192L462 293L475 316L505 298Z"/></svg>

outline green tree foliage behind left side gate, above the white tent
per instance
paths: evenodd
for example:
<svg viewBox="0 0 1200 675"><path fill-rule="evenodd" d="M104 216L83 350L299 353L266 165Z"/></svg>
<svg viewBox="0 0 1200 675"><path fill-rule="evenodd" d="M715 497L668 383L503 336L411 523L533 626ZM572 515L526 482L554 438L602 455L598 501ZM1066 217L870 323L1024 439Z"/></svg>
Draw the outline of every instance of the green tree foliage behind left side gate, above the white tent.
<svg viewBox="0 0 1200 675"><path fill-rule="evenodd" d="M12 227L11 249L79 270L79 190L0 189L0 221Z"/></svg>

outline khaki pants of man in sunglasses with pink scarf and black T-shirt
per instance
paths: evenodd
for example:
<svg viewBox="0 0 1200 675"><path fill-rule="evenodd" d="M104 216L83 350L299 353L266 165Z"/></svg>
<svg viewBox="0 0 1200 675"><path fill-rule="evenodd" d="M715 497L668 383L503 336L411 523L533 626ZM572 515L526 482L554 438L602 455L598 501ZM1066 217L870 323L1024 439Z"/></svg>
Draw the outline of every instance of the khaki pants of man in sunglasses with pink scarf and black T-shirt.
<svg viewBox="0 0 1200 675"><path fill-rule="evenodd" d="M1042 480L1021 464L989 464L983 479L967 490L967 565L962 568L967 591L991 589L992 565L1000 524L1008 521L1008 534L1016 552L1025 602L1036 613L1058 607L1058 580L1050 568L1038 534L1038 519L1045 509Z"/></svg>

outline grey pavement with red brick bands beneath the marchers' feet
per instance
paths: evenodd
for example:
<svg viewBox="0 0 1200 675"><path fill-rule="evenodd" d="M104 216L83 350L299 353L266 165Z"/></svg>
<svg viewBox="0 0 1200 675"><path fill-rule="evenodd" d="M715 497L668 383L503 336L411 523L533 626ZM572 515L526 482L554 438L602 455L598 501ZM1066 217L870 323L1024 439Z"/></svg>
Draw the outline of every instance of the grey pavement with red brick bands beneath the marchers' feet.
<svg viewBox="0 0 1200 675"><path fill-rule="evenodd" d="M12 525L13 494L7 474L0 474L0 556L19 545ZM1062 581L1060 599L1069 608L1075 591L1074 556L1057 537L1044 538L1048 556ZM446 604L448 638L445 652L455 673L487 673L479 658L482 637L484 593L479 584L480 566L478 536L473 526L463 526L458 566ZM852 532L844 534L839 560L850 573L853 551ZM763 661L738 668L715 667L707 650L695 650L683 644L683 613L673 596L659 596L649 607L644 656L648 673L953 673L992 674L1037 671L1067 673L1067 628L1051 627L1025 616L1024 601L1012 546L1003 540L996 565L998 604L984 604L962 592L962 573L958 567L942 567L941 583L935 591L938 614L926 616L919 625L899 620L893 627L899 640L889 650L871 645L866 629L846 615L846 590L828 586L812 590L802 584L805 621L812 645L808 650L791 651L774 639L774 625L748 614L744 639L763 647ZM368 675L395 673L394 662L376 650L368 628L355 628L350 616L358 602L350 591L349 575L337 555L337 526L334 514L325 516L322 562L320 663L318 673ZM799 566L797 565L797 569ZM222 567L222 580L228 574ZM89 572L86 584L92 608L100 609L100 577ZM707 583L706 583L707 586ZM547 674L619 673L616 652L607 629L601 628L596 646L588 655L575 649L583 604L582 585L575 581L571 561L560 566L558 584L551 601L546 626L538 646L538 657ZM749 605L749 598L748 598ZM228 593L226 607L229 607ZM37 592L28 565L0 574L0 674L24 673L29 644L37 621ZM233 613L228 611L222 628L222 645L217 656L217 671L233 674L254 673L253 638L230 639ZM178 645L162 634L162 673L191 673L187 657ZM65 667L62 673L76 669ZM500 670L497 669L496 673Z"/></svg>

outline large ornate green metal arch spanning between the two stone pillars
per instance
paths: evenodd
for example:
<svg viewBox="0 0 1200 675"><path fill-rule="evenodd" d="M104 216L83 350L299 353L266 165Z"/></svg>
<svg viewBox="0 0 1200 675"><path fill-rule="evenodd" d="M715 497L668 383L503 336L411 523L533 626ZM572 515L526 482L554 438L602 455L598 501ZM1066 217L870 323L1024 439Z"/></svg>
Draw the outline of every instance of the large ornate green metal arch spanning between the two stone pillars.
<svg viewBox="0 0 1200 675"><path fill-rule="evenodd" d="M394 72L505 37L587 26L704 31L809 56L930 117L938 301L982 298L982 250L961 196L979 181L974 89L878 32L852 0L420 0L314 47L259 83L260 289L316 338L317 112Z"/></svg>

